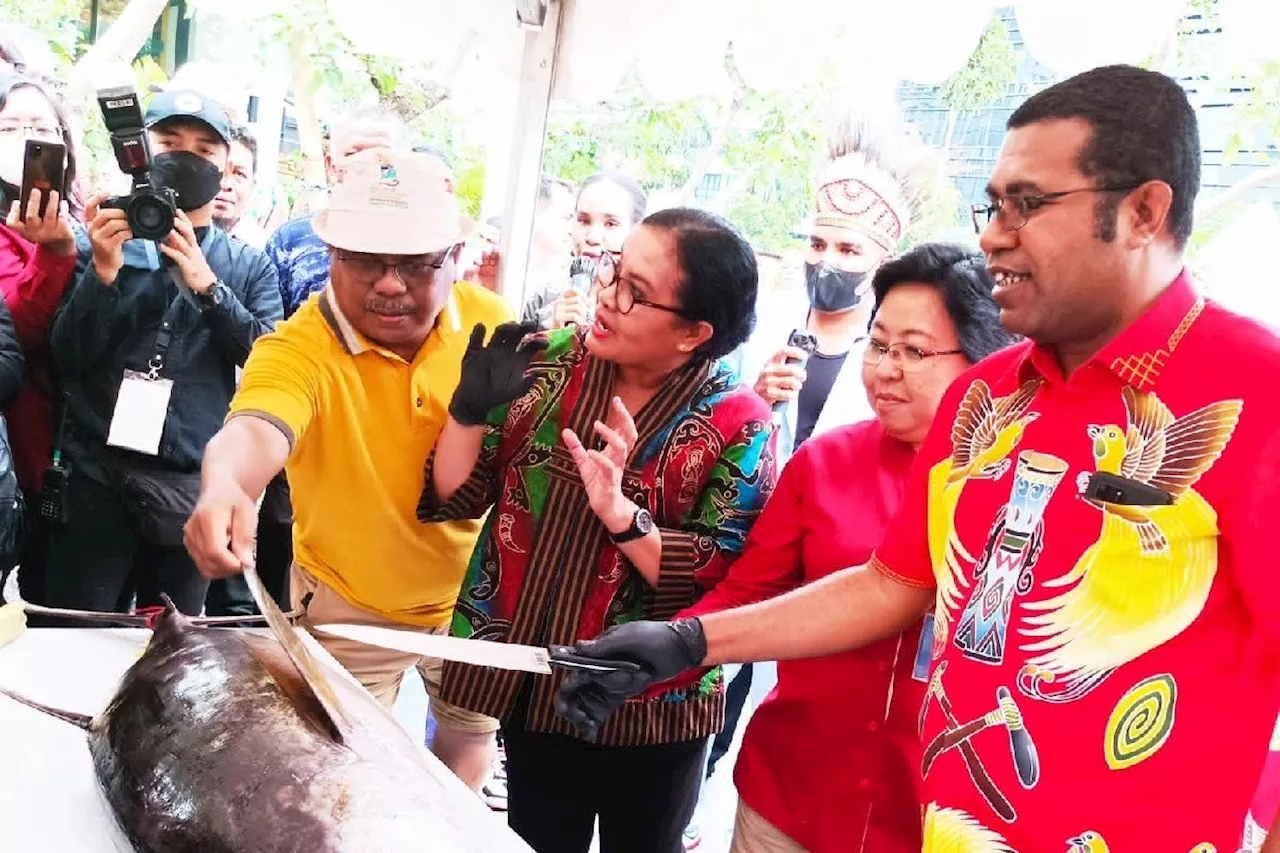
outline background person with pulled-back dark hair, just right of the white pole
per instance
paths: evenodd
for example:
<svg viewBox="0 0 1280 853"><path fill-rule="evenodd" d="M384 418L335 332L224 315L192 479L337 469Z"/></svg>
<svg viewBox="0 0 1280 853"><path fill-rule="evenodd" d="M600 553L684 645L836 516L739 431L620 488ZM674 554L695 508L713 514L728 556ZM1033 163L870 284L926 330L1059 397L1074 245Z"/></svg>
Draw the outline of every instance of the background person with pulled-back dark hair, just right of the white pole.
<svg viewBox="0 0 1280 853"><path fill-rule="evenodd" d="M588 325L595 309L595 291L582 282L590 282L591 270L605 252L621 252L631 229L644 219L648 197L630 175L620 172L596 172L582 182L573 205L570 238L572 263L564 274L525 302L522 319L538 323L543 330L563 329L566 325ZM582 278L573 279L572 270L581 270Z"/></svg>

